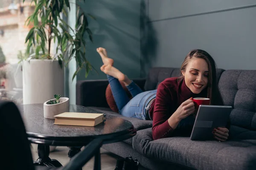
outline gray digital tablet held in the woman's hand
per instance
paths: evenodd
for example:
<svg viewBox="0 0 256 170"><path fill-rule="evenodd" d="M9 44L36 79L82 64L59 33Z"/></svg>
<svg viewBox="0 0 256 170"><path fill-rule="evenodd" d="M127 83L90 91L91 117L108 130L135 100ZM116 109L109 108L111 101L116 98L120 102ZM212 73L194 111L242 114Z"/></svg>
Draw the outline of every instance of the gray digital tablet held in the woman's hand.
<svg viewBox="0 0 256 170"><path fill-rule="evenodd" d="M213 129L226 127L231 111L231 106L200 105L190 139L214 140Z"/></svg>

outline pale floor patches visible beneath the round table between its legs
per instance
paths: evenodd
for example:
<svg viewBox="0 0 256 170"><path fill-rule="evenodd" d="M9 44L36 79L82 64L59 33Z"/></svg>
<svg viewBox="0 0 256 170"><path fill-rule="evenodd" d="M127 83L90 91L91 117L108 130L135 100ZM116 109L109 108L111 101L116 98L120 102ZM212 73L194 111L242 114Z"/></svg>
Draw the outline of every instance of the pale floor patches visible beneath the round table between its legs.
<svg viewBox="0 0 256 170"><path fill-rule="evenodd" d="M82 148L83 149L83 148ZM35 161L38 158L37 145L32 144L32 156ZM57 159L62 165L69 162L69 157L67 156L69 149L67 147L56 147L56 149L50 152L49 157L51 159ZM93 170L94 158L90 159L87 164L82 168L83 170ZM116 167L116 158L110 156L107 150L101 148L101 165L102 170L114 170Z"/></svg>

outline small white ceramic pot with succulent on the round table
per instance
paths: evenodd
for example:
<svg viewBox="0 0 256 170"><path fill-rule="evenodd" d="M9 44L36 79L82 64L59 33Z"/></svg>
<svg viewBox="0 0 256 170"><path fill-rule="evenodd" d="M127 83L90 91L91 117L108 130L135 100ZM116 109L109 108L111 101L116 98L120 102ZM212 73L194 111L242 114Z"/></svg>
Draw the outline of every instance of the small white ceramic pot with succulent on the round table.
<svg viewBox="0 0 256 170"><path fill-rule="evenodd" d="M56 99L51 99L52 101L55 101ZM50 100L47 102L44 102L44 118L47 119L55 119L54 116L69 112L69 98L67 97L61 97L60 103L57 104L49 104Z"/></svg>

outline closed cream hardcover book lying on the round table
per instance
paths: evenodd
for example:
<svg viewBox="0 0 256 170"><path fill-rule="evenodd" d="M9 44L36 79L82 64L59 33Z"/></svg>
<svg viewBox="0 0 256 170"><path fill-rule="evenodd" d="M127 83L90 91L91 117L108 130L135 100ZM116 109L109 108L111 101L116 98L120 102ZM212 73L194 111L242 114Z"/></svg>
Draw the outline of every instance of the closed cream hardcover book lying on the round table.
<svg viewBox="0 0 256 170"><path fill-rule="evenodd" d="M102 113L64 112L55 117L54 125L96 126L103 122Z"/></svg>

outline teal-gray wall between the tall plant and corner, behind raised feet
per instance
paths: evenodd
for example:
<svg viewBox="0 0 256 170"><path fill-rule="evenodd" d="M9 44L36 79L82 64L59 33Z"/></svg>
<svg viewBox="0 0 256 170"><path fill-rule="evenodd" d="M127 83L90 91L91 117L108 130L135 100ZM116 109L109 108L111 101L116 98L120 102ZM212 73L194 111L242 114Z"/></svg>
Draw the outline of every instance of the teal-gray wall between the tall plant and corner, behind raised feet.
<svg viewBox="0 0 256 170"><path fill-rule="evenodd" d="M140 1L86 0L82 9L96 17L89 20L93 44L87 43L87 59L99 72L92 71L87 79L106 79L100 71L102 60L96 48L104 47L114 59L114 66L131 78L140 77ZM83 80L81 71L77 80Z"/></svg>

